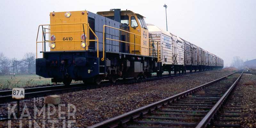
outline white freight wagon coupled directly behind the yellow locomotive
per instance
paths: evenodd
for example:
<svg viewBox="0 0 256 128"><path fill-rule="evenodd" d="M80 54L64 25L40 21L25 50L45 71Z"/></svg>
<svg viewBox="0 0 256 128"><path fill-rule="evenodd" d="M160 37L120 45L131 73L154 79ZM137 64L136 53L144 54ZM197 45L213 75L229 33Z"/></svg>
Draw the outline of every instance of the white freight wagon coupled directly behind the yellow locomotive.
<svg viewBox="0 0 256 128"><path fill-rule="evenodd" d="M158 41L159 63L162 71L168 71L169 74L174 71L184 71L184 43L178 38L158 28L153 24L147 24L149 36Z"/></svg>

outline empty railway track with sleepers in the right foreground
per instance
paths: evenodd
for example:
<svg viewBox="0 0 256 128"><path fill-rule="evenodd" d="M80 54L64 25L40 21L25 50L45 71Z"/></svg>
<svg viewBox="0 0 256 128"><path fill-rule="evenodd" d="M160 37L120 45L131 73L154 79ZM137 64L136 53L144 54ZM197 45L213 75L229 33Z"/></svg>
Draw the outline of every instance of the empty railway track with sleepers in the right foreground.
<svg viewBox="0 0 256 128"><path fill-rule="evenodd" d="M219 112L224 101L227 101L242 74L243 72L240 75L237 72L229 74L88 128L206 127ZM240 100L238 98L231 103ZM217 125L216 122L215 124Z"/></svg>

